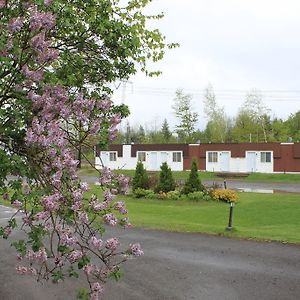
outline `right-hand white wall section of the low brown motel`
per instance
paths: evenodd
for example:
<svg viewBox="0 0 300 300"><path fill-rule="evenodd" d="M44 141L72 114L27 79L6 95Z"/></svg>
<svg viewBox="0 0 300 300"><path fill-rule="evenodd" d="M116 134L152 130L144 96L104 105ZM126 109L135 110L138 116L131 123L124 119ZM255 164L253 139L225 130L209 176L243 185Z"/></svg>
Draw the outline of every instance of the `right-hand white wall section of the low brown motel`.
<svg viewBox="0 0 300 300"><path fill-rule="evenodd" d="M218 153L218 162L208 162L208 152ZM222 153L228 151L207 151L206 152L206 171L210 172L259 172L259 173L273 173L274 158L273 151L246 151L245 157L231 157L229 152L229 169L222 169L221 157ZM261 162L261 152L271 152L271 162ZM253 164L249 164L249 160L253 158Z"/></svg>

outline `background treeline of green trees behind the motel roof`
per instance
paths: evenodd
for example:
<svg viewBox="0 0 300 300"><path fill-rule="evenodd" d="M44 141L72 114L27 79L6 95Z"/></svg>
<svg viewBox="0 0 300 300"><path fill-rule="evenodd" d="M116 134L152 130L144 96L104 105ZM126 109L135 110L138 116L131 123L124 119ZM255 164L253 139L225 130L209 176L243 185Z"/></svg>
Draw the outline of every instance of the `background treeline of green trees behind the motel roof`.
<svg viewBox="0 0 300 300"><path fill-rule="evenodd" d="M204 130L196 128L199 114L193 110L192 96L177 90L172 110L176 116L175 129L167 119L156 128L132 126L123 121L115 143L242 143L300 141L300 110L286 120L273 116L263 102L263 95L252 90L235 117L228 117L224 107L217 104L212 86L204 93L203 111L207 120Z"/></svg>

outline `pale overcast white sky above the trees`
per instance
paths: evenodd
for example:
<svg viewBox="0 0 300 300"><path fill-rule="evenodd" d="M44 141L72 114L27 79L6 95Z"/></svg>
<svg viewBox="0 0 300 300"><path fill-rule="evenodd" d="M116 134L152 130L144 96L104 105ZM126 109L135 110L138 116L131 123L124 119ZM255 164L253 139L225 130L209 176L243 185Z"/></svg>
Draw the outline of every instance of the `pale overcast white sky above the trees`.
<svg viewBox="0 0 300 300"><path fill-rule="evenodd" d="M159 129L167 118L173 127L171 106L180 88L193 96L203 129L208 84L229 116L253 88L277 117L300 110L299 0L153 0L148 10L165 13L156 27L180 48L156 64L161 76L137 74L116 91L115 101L129 105L131 125Z"/></svg>

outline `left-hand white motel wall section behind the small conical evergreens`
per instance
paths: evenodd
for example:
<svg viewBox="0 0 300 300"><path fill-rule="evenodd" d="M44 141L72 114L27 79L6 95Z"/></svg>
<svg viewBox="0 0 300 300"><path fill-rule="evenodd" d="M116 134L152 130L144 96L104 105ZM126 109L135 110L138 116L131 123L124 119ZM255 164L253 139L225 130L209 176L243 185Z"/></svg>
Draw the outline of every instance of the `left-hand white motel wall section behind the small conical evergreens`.
<svg viewBox="0 0 300 300"><path fill-rule="evenodd" d="M167 162L168 166L173 171L183 170L183 151L137 151L136 157L131 157L131 145L123 145L123 157L118 157L116 161L109 161L109 153L115 151L101 151L104 166L110 169L124 169L134 170L138 161L138 152L146 153L146 161L143 162L144 167L148 171L159 171L163 162ZM181 153L181 162L173 162L173 152ZM118 155L118 153L117 153ZM154 157L156 156L156 160ZM95 159L95 166L97 169L102 168L101 160L99 157Z"/></svg>

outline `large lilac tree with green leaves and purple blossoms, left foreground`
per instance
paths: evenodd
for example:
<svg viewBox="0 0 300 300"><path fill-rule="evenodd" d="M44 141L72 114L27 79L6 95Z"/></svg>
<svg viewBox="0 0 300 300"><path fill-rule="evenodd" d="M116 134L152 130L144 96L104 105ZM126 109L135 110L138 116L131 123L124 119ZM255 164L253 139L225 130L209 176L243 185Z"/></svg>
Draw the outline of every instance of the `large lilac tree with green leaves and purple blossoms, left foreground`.
<svg viewBox="0 0 300 300"><path fill-rule="evenodd" d="M102 241L104 223L128 225L125 204L112 194L128 179L103 169L104 199L89 197L74 154L96 137L102 145L112 141L128 114L110 101L111 83L138 69L157 74L147 61L175 46L147 28L162 17L144 15L149 2L0 0L0 192L23 214L27 234L12 243L23 258L17 271L54 282L84 271L84 294L92 299L108 276L119 278L125 257L142 250ZM18 225L13 216L0 236L10 238Z"/></svg>

